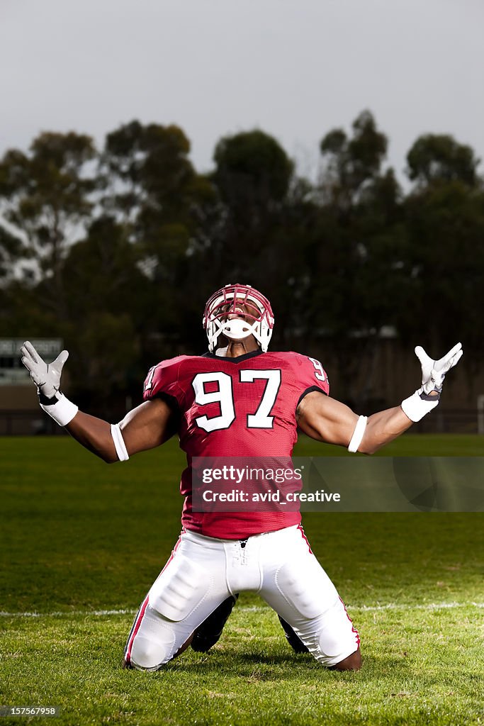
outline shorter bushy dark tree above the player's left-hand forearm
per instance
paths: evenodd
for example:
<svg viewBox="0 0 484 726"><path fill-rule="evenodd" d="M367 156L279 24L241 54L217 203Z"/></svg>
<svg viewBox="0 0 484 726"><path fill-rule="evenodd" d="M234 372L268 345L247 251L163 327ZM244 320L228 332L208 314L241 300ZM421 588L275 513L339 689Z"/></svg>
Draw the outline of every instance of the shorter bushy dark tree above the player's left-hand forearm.
<svg viewBox="0 0 484 726"><path fill-rule="evenodd" d="M89 394L94 407L114 392L130 391L134 378L134 389L140 391L148 367L141 352L154 290L139 260L126 225L107 216L93 221L86 238L75 242L65 259L68 324L62 335L72 364L83 372L75 381L78 393Z"/></svg>

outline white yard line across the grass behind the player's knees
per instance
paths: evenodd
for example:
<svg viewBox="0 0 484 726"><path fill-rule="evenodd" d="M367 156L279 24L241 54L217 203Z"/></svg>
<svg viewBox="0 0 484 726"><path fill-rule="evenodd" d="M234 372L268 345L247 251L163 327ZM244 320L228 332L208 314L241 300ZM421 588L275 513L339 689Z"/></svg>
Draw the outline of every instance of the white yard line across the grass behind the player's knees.
<svg viewBox="0 0 484 726"><path fill-rule="evenodd" d="M399 605L398 603L386 603L385 605L348 605L350 611L380 611L380 610L453 610L455 608L484 608L484 603L427 603L425 605ZM250 613L258 613L270 610L268 605L242 605L237 610ZM0 611L2 618L60 618L75 616L104 617L109 615L134 615L136 610L70 610L53 611L51 613L7 613Z"/></svg>

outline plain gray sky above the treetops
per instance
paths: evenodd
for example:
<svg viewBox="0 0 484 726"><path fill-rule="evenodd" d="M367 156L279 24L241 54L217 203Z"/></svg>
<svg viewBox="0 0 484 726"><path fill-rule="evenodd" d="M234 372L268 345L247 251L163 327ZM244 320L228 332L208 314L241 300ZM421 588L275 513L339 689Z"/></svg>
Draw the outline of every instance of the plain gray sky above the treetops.
<svg viewBox="0 0 484 726"><path fill-rule="evenodd" d="M400 179L422 133L484 158L483 30L483 0L0 0L0 155L138 118L181 126L198 171L258 127L308 173L369 108Z"/></svg>

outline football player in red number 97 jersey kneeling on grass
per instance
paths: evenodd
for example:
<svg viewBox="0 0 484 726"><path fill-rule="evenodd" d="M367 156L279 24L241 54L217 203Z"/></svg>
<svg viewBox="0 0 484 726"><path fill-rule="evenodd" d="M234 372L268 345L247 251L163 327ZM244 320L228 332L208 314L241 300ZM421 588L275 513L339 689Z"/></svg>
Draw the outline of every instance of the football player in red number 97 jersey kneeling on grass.
<svg viewBox="0 0 484 726"><path fill-rule="evenodd" d="M237 593L248 590L278 613L295 650L309 650L324 666L359 669L358 632L311 552L300 513L194 511L192 457L290 457L298 428L316 441L372 454L437 406L462 346L438 361L416 348L422 386L400 406L366 418L330 398L319 361L268 352L274 316L269 301L250 285L226 285L214 293L203 325L208 353L152 367L144 403L115 425L79 411L60 392L67 351L46 364L30 343L22 347L41 407L104 461L125 461L176 432L187 454L180 487L183 529L141 603L125 664L157 670L192 639L196 650L208 650Z"/></svg>

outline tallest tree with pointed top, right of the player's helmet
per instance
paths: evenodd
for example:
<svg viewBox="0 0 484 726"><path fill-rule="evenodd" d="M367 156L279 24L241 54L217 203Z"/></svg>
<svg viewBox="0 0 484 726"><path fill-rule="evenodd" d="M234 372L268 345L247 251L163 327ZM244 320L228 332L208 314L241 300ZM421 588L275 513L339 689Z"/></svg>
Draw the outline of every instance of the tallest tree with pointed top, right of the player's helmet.
<svg viewBox="0 0 484 726"><path fill-rule="evenodd" d="M319 346L330 341L345 381L337 395L368 408L379 396L374 364L380 333L395 325L406 294L402 192L393 170L382 171L387 138L369 111L353 122L352 136L333 129L320 148L306 330Z"/></svg>

